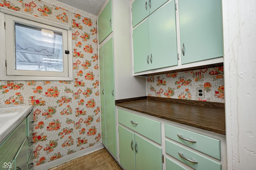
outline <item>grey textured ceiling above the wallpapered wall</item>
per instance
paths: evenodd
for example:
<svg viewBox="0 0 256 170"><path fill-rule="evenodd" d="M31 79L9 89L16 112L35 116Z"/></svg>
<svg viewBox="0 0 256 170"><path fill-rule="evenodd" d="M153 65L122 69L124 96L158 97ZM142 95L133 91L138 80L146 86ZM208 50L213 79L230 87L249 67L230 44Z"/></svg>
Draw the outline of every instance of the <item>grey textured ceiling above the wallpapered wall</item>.
<svg viewBox="0 0 256 170"><path fill-rule="evenodd" d="M58 0L79 10L98 16L106 0Z"/></svg>

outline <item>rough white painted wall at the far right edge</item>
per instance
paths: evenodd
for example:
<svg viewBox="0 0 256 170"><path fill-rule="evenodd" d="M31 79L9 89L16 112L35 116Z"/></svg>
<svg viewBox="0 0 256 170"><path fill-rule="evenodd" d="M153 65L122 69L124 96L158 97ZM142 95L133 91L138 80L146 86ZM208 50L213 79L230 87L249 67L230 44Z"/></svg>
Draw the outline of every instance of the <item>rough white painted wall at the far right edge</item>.
<svg viewBox="0 0 256 170"><path fill-rule="evenodd" d="M256 169L256 1L223 0L228 169Z"/></svg>

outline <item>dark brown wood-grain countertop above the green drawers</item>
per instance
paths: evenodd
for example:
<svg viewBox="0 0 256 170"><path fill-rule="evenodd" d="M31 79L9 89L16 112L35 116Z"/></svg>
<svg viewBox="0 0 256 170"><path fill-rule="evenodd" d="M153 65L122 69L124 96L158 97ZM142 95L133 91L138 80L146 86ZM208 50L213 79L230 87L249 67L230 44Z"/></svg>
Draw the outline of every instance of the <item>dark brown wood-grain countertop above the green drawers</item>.
<svg viewBox="0 0 256 170"><path fill-rule="evenodd" d="M226 134L224 103L142 97L134 100L118 100L116 106L218 134Z"/></svg>

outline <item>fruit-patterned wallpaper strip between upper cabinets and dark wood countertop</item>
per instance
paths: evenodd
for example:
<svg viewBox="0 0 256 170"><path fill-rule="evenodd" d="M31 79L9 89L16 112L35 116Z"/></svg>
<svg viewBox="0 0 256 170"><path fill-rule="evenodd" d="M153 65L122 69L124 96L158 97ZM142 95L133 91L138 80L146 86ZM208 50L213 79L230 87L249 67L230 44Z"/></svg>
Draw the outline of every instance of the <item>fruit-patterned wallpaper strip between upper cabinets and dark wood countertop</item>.
<svg viewBox="0 0 256 170"><path fill-rule="evenodd" d="M148 96L224 103L223 76L223 67L148 76ZM196 87L204 87L205 98L196 97Z"/></svg>

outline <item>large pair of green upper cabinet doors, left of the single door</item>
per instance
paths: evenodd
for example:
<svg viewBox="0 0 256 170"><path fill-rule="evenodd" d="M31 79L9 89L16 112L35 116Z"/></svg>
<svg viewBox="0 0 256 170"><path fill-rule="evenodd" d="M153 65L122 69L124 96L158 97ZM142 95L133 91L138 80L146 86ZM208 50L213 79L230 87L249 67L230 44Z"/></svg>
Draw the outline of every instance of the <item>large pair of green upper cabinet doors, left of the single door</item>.
<svg viewBox="0 0 256 170"><path fill-rule="evenodd" d="M175 1L133 30L134 73L178 65Z"/></svg>

